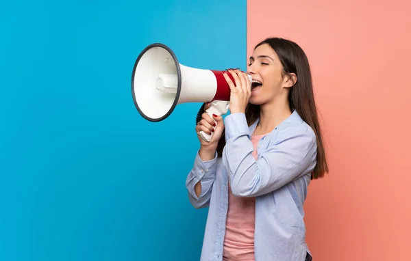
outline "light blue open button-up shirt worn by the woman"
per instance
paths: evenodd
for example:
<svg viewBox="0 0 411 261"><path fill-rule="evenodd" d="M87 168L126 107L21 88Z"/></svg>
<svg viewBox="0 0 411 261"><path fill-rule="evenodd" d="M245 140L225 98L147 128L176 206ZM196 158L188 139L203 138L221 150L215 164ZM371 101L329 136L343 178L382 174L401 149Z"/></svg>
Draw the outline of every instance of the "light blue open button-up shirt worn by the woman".
<svg viewBox="0 0 411 261"><path fill-rule="evenodd" d="M228 203L228 179L238 197L256 197L256 261L303 261L306 244L303 202L316 165L316 137L297 111L258 143L253 157L250 137L258 123L247 125L244 113L227 115L223 157L201 161L186 178L195 208L208 207L201 261L221 261ZM201 194L195 184L201 182Z"/></svg>

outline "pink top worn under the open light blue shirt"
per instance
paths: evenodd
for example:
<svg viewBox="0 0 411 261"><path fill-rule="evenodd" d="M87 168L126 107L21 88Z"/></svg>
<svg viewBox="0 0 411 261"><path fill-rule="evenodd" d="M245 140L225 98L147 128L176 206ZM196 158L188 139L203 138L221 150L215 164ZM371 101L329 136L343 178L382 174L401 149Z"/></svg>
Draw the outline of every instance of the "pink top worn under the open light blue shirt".
<svg viewBox="0 0 411 261"><path fill-rule="evenodd" d="M257 159L258 141L264 135L251 136L253 156ZM223 261L254 261L254 197L236 197L228 185L228 210L225 223Z"/></svg>

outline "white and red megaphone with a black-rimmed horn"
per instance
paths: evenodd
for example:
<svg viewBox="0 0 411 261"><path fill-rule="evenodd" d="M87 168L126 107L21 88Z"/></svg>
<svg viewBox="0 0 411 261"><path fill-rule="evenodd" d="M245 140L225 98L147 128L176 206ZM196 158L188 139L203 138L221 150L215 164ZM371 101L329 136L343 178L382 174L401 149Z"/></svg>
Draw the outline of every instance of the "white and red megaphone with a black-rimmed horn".
<svg viewBox="0 0 411 261"><path fill-rule="evenodd" d="M169 46L149 44L138 55L132 72L134 105L145 120L160 122L179 104L211 102L206 113L214 120L212 114L223 115L229 107L230 89L223 72L184 66ZM201 131L200 137L211 141L212 134Z"/></svg>

